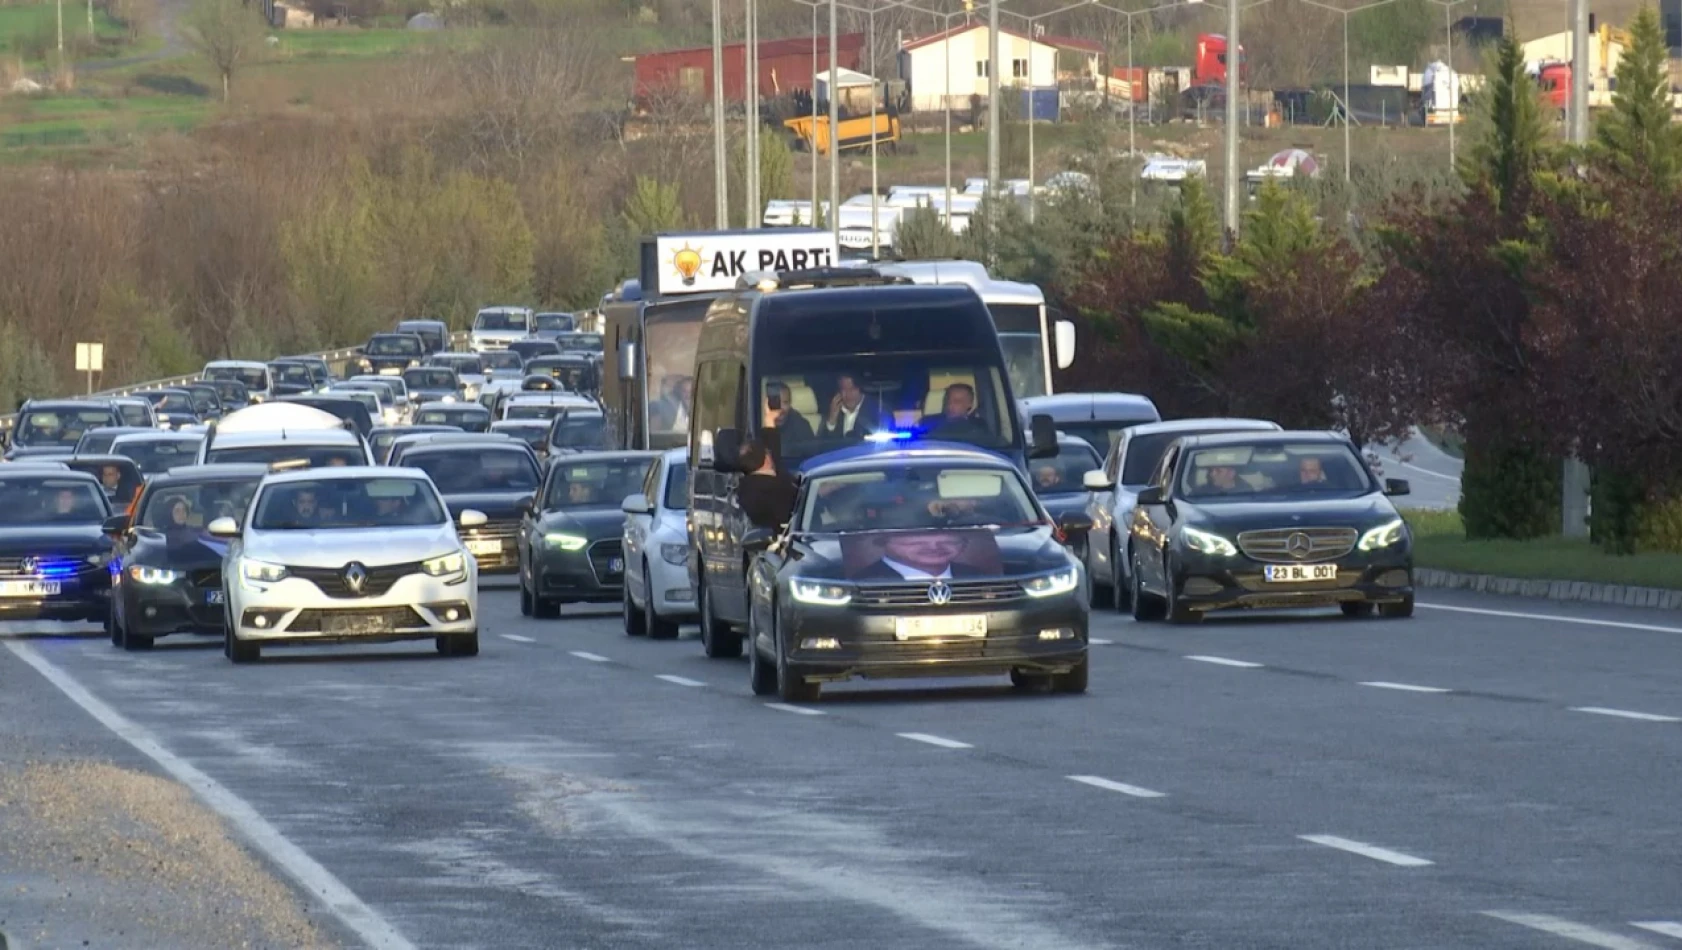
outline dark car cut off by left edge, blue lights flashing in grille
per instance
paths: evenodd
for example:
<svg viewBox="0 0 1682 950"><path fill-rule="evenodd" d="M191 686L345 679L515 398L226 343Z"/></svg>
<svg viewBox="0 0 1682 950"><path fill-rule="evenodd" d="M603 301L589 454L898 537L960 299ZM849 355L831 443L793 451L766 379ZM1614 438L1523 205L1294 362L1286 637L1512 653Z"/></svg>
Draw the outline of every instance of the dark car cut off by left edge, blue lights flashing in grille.
<svg viewBox="0 0 1682 950"><path fill-rule="evenodd" d="M111 504L69 469L0 466L0 619L106 622Z"/></svg>

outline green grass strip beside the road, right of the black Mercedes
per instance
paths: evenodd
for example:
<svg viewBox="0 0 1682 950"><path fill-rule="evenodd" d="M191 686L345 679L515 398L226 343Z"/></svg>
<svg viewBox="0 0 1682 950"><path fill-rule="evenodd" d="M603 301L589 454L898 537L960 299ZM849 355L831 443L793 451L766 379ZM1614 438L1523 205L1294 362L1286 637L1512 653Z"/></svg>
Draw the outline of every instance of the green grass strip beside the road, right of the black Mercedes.
<svg viewBox="0 0 1682 950"><path fill-rule="evenodd" d="M1420 567L1526 580L1584 580L1682 590L1682 555L1605 555L1586 540L1468 541L1455 511L1403 511Z"/></svg>

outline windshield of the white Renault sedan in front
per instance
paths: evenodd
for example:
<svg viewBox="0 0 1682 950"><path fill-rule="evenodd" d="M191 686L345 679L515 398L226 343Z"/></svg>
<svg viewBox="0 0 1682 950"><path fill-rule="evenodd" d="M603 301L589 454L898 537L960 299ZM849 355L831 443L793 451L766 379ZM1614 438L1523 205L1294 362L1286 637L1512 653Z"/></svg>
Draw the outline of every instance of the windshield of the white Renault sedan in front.
<svg viewBox="0 0 1682 950"><path fill-rule="evenodd" d="M320 531L444 525L432 486L415 478L284 481L257 496L259 531Z"/></svg>

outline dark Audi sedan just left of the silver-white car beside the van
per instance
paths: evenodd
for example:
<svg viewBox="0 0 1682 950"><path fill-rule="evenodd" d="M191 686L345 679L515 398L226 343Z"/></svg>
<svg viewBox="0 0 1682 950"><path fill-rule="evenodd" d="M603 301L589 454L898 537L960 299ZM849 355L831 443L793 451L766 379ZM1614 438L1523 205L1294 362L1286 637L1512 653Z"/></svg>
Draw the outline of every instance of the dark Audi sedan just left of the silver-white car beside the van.
<svg viewBox="0 0 1682 950"><path fill-rule="evenodd" d="M587 452L550 459L523 504L520 612L557 617L560 605L624 597L624 499L643 491L659 452Z"/></svg>

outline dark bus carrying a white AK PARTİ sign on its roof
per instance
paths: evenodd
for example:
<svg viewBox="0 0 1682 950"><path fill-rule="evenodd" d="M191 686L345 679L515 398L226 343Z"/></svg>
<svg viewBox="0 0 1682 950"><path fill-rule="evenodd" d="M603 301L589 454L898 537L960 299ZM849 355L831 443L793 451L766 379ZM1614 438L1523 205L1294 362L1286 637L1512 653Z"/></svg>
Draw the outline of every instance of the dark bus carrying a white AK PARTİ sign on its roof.
<svg viewBox="0 0 1682 950"><path fill-rule="evenodd" d="M690 444L701 316L742 274L838 262L834 234L812 227L673 232L643 239L641 272L600 306L602 405L621 449Z"/></svg>

